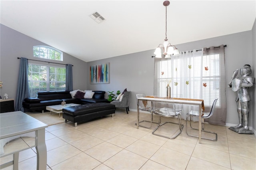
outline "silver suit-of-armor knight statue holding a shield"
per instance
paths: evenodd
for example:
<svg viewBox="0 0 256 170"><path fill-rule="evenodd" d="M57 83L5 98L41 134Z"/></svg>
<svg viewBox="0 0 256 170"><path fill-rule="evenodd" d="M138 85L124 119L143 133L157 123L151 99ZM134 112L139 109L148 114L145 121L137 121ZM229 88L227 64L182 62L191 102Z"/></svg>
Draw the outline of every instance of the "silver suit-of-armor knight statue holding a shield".
<svg viewBox="0 0 256 170"><path fill-rule="evenodd" d="M255 78L249 76L252 73L251 66L246 64L240 69L241 77L236 78L238 69L234 71L232 79L228 87L232 87L232 91L236 91L236 105L239 118L239 124L235 127L230 127L237 133L253 134L252 130L249 130L248 119L250 111L251 97L249 94L249 87L255 86Z"/></svg>

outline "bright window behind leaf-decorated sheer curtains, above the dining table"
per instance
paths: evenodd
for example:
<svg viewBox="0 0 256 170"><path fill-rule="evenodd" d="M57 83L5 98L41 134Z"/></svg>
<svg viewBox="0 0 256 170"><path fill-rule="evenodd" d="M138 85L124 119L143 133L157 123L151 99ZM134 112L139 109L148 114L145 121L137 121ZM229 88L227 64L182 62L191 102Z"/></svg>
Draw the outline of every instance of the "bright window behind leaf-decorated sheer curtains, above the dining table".
<svg viewBox="0 0 256 170"><path fill-rule="evenodd" d="M185 65L185 63L188 64ZM160 88L157 88L157 96L166 97L167 81L171 79L173 94L182 94L184 98L204 99L206 106L211 106L214 99L220 99L220 60L218 54L193 58L173 57L159 61L158 65L157 82ZM204 88L204 85L209 88ZM202 93L198 93L200 88L202 88ZM219 104L218 102L217 106Z"/></svg>

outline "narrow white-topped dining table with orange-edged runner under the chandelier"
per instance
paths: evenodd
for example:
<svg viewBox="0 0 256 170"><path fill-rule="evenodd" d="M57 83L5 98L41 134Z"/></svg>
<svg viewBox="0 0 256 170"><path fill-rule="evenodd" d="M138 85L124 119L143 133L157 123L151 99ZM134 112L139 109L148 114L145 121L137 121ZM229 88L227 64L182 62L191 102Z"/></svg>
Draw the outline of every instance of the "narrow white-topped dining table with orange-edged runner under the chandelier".
<svg viewBox="0 0 256 170"><path fill-rule="evenodd" d="M170 100L170 99L172 99L172 100ZM151 101L151 102L153 102L153 105L155 102L177 103L177 104L184 104L184 105L197 105L198 111L199 111L199 122L202 122L202 111L204 111L204 100L202 100L202 99L146 96L146 97L139 97L138 101ZM140 110L139 110L139 106L137 106L137 128L139 128L139 119L140 119ZM199 133L198 142L201 143L201 132L202 132L202 124L201 123L198 123L198 129L199 129L198 130L198 133Z"/></svg>

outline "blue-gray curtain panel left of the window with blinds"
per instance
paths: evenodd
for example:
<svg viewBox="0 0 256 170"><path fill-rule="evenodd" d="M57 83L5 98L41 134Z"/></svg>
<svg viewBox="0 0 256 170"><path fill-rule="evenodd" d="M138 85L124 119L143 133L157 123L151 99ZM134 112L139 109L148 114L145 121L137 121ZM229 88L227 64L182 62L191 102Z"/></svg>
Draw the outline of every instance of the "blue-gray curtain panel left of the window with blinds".
<svg viewBox="0 0 256 170"><path fill-rule="evenodd" d="M25 98L28 98L29 95L29 85L28 85L28 59L21 57L20 58L20 70L18 76L18 85L17 85L17 95L15 100L15 111L24 112L22 102Z"/></svg>

